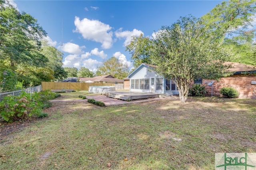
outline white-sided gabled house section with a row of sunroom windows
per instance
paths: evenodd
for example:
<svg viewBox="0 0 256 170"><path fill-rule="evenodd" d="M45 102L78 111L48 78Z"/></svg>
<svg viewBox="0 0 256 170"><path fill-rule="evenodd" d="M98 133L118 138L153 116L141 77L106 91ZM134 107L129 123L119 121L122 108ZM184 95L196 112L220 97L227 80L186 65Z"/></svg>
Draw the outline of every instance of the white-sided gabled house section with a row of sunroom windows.
<svg viewBox="0 0 256 170"><path fill-rule="evenodd" d="M127 77L130 78L132 92L152 92L158 94L179 94L176 84L154 72L156 66L142 63Z"/></svg>

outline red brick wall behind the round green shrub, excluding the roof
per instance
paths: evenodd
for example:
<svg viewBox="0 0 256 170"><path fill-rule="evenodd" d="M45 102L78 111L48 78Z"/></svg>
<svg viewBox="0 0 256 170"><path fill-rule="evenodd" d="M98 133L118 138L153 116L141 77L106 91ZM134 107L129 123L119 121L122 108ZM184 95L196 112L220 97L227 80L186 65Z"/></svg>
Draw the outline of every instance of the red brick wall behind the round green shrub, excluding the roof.
<svg viewBox="0 0 256 170"><path fill-rule="evenodd" d="M210 82L212 80L202 80L202 85L206 87L207 96L220 96L220 89L222 87L232 87L239 92L239 98L253 98L254 96L254 88L256 95L256 85L252 85L252 81L256 81L256 76L232 76L220 78L219 82L214 80L214 84L211 86L207 86L205 82Z"/></svg>

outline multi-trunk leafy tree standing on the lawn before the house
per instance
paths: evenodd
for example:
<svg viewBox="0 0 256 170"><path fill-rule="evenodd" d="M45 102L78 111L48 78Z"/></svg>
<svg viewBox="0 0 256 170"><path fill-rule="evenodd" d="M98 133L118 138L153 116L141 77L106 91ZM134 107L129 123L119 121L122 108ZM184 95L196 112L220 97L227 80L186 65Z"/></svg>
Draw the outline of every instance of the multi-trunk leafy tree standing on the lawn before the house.
<svg viewBox="0 0 256 170"><path fill-rule="evenodd" d="M175 80L180 101L186 102L190 83L196 78L217 79L224 75L229 54L202 21L180 18L155 33L151 59L158 74Z"/></svg>

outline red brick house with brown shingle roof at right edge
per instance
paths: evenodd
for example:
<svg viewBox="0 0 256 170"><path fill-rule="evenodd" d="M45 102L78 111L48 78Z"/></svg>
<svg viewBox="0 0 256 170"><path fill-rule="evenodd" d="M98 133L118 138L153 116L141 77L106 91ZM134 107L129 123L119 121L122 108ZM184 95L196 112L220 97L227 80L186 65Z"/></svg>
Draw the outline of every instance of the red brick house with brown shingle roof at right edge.
<svg viewBox="0 0 256 170"><path fill-rule="evenodd" d="M207 95L221 96L220 89L223 87L232 87L239 92L238 98L256 98L256 85L251 84L256 81L256 67L240 63L232 63L233 68L228 71L234 72L228 77L216 80L199 79L194 81L193 84L202 84L206 88ZM212 86L207 84L214 81ZM192 84L191 84L192 85Z"/></svg>

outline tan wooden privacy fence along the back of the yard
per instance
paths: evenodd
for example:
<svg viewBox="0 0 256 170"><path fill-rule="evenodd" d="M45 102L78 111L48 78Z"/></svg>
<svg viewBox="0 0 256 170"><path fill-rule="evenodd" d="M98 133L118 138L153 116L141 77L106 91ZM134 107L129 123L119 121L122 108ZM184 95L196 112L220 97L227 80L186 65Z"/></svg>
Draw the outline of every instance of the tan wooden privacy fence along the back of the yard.
<svg viewBox="0 0 256 170"><path fill-rule="evenodd" d="M114 86L111 83L42 82L42 90L88 90L90 86Z"/></svg>

